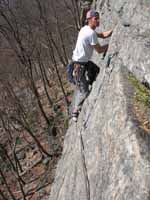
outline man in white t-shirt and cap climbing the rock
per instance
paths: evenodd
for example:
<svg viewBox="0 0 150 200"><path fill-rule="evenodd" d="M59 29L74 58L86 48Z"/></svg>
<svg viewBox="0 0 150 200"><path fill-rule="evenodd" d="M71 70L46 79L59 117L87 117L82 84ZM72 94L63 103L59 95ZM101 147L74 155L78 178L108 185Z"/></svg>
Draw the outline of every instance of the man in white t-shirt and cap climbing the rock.
<svg viewBox="0 0 150 200"><path fill-rule="evenodd" d="M95 10L89 10L86 14L87 25L81 28L75 50L73 51L72 60L74 63L73 77L76 83L74 107L72 118L77 121L81 105L89 94L89 79L87 77L88 68L95 69L95 64L90 61L93 50L98 53L106 52L108 44L101 46L98 43L98 37L106 38L112 33L112 30L97 33L96 27L99 26L99 13Z"/></svg>

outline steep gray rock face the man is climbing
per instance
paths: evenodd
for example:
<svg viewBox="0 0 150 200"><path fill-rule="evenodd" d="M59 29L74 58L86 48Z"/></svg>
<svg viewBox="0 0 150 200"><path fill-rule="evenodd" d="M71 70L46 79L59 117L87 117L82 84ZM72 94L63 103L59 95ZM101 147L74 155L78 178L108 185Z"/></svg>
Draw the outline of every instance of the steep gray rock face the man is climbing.
<svg viewBox="0 0 150 200"><path fill-rule="evenodd" d="M102 29L116 26L105 59L94 55L101 71L70 121L50 200L150 200L150 135L128 81L131 71L150 85L150 1L100 0L97 10Z"/></svg>

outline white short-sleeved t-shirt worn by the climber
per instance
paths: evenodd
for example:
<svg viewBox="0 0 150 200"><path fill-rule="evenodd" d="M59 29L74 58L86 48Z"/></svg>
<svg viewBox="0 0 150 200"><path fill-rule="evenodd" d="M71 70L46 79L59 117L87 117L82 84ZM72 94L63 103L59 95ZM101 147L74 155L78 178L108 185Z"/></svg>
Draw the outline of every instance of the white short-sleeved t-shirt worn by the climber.
<svg viewBox="0 0 150 200"><path fill-rule="evenodd" d="M75 50L73 51L72 60L78 62L88 62L93 53L92 45L98 43L96 32L89 26L81 28Z"/></svg>

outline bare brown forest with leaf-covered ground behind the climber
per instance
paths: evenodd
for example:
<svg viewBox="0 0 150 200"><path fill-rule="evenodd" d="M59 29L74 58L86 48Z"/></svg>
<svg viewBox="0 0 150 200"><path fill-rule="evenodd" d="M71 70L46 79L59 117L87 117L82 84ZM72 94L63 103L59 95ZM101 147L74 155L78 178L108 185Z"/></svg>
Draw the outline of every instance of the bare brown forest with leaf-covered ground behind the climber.
<svg viewBox="0 0 150 200"><path fill-rule="evenodd" d="M76 0L0 0L0 200L48 199L80 11Z"/></svg>

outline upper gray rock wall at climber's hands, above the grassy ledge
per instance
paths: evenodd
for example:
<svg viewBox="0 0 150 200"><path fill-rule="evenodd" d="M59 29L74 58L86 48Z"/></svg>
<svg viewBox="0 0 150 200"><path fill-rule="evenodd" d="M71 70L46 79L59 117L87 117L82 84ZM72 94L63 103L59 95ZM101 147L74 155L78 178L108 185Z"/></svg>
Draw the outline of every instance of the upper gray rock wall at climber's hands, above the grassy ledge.
<svg viewBox="0 0 150 200"><path fill-rule="evenodd" d="M123 65L150 86L150 1L101 0L97 9L103 30L116 24L113 39Z"/></svg>

